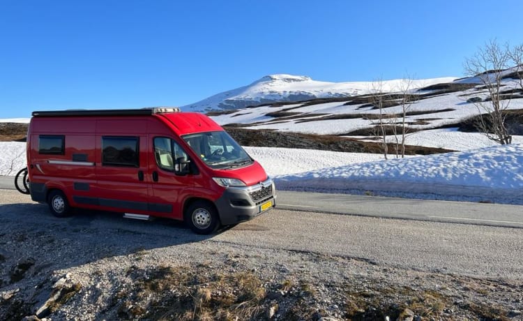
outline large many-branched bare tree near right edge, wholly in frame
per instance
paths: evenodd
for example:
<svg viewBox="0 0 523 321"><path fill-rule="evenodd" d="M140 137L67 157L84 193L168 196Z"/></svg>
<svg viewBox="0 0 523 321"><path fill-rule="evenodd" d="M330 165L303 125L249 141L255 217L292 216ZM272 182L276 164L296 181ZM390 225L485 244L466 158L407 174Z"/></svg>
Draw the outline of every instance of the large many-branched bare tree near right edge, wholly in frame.
<svg viewBox="0 0 523 321"><path fill-rule="evenodd" d="M510 100L503 99L501 95L501 80L509 62L508 44L499 45L496 40L491 40L464 64L465 72L478 77L489 95L487 99L474 103L480 114L478 130L499 144L510 144L512 141L506 127L506 110Z"/></svg>

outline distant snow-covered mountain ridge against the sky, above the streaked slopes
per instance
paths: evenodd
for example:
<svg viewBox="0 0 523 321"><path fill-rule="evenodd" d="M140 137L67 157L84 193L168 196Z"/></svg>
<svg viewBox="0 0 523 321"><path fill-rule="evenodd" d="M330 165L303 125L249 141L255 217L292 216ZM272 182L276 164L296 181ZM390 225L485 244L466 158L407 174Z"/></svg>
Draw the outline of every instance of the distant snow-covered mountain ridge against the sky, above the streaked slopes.
<svg viewBox="0 0 523 321"><path fill-rule="evenodd" d="M414 80L410 89L452 82L455 77ZM385 80L381 91L400 91L409 80ZM197 103L181 107L184 111L236 110L251 105L282 101L303 101L314 98L350 97L367 94L377 89L377 82L320 82L307 76L268 75L248 86L224 91Z"/></svg>

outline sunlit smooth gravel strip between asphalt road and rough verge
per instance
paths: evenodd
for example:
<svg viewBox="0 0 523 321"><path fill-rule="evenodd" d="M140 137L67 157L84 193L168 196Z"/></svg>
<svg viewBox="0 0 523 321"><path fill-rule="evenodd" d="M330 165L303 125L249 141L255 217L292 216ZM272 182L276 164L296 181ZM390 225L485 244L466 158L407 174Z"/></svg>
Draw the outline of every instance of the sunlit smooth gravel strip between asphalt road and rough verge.
<svg viewBox="0 0 523 321"><path fill-rule="evenodd" d="M277 209L215 241L438 273L521 278L523 233L510 227L326 215Z"/></svg>

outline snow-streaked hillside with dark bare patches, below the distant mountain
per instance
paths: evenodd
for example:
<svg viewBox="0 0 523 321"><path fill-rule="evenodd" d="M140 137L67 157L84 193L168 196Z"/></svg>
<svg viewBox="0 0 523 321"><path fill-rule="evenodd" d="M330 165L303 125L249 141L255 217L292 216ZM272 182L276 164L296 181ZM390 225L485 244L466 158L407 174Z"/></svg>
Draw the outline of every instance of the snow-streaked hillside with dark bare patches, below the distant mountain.
<svg viewBox="0 0 523 321"><path fill-rule="evenodd" d="M508 72L507 72L508 73ZM439 83L442 79L427 80L426 82ZM464 89L454 89L449 91L445 88L438 90L411 90L411 94L417 98L407 106L407 127L409 135L406 144L419 145L426 147L443 147L444 142L440 142L438 137L446 140L454 140L457 135L464 135L456 130L462 121L476 117L478 113L485 112L475 103L467 100L471 97L480 98L485 101L488 92L480 82L478 77L463 78L448 85L456 87L459 84L471 84ZM363 84L363 83L358 83ZM401 80L389 82L391 89L401 87ZM371 85L376 86L375 83ZM384 88L385 86L382 86ZM414 85L412 86L414 87ZM385 89L382 89L385 91ZM503 80L503 90L515 91L513 98L502 100L508 110L523 109L523 94L520 92L520 83L517 80L506 78ZM362 89L363 92L363 89ZM391 95L392 96L392 95ZM391 98L391 101L394 99ZM396 99L396 102L399 101ZM485 104L488 104L486 102ZM386 107L384 114L399 115L402 113L401 104ZM225 126L234 124L248 129L267 129L293 133L318 134L318 135L342 135L369 140L374 137L372 128L377 125L379 109L374 107L368 97L344 98L343 101L323 102L309 101L291 105L260 105L255 108L242 108L231 112L219 114L212 118L218 124ZM400 118L394 116L386 120L388 125L398 124ZM414 133L417 130L421 132ZM428 137L427 130L435 137ZM362 134L361 132L364 132ZM462 145L462 140L455 144L454 150L464 150L477 147L490 146L489 142L480 135L474 136L467 133L471 138L468 144ZM363 137L362 135L367 135ZM394 140L395 137L389 137ZM513 142L523 142L523 136L514 135Z"/></svg>

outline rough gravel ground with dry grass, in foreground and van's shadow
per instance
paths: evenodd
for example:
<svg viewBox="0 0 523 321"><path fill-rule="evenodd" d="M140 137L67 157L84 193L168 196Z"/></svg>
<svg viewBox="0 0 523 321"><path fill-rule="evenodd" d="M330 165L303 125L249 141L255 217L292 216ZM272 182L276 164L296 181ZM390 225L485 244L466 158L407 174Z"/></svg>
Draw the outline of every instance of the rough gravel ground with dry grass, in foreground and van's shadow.
<svg viewBox="0 0 523 321"><path fill-rule="evenodd" d="M0 190L0 320L522 320L518 278L241 246L165 220L59 219L28 200Z"/></svg>

